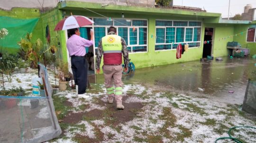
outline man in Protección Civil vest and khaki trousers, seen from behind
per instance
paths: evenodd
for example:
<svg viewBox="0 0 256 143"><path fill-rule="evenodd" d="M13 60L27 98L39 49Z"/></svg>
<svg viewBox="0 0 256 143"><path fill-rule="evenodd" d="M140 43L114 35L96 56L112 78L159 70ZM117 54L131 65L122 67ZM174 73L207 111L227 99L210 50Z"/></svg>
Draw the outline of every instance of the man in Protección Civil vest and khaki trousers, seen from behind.
<svg viewBox="0 0 256 143"><path fill-rule="evenodd" d="M117 35L117 29L110 26L108 35L99 41L98 55L96 59L97 74L100 73L101 57L103 54L102 66L105 77L105 87L107 88L108 101L113 103L115 96L117 109L124 109L122 105L122 53L124 57L125 70L128 70L129 57L125 40ZM113 86L113 82L115 87Z"/></svg>

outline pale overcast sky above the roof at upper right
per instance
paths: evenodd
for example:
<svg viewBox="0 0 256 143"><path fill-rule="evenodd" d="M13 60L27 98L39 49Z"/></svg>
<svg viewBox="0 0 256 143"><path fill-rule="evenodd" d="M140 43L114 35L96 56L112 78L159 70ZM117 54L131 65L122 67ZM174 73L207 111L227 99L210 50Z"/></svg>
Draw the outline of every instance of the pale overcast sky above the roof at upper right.
<svg viewBox="0 0 256 143"><path fill-rule="evenodd" d="M204 8L207 12L221 13L222 17L235 16L242 14L244 7L251 4L252 8L256 8L256 0L174 0L174 5Z"/></svg>

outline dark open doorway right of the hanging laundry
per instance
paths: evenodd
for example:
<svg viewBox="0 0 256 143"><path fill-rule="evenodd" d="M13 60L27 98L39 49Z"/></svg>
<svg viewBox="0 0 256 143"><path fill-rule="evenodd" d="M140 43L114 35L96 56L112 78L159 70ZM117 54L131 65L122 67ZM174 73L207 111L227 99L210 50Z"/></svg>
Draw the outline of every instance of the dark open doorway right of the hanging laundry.
<svg viewBox="0 0 256 143"><path fill-rule="evenodd" d="M206 41L206 43L203 44L202 58L207 58L207 56L212 55L212 45L213 45L212 40L213 40L213 28L205 27L203 41L204 42Z"/></svg>

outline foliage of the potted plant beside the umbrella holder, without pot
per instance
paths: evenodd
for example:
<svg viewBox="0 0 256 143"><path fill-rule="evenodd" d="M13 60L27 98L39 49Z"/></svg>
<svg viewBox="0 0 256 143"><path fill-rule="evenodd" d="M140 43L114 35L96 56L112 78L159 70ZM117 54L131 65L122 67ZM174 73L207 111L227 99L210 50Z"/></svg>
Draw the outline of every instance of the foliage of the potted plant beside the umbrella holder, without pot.
<svg viewBox="0 0 256 143"><path fill-rule="evenodd" d="M69 77L69 71L68 71L68 63L64 62L63 60L58 60L58 73L59 73L59 79L60 81L64 82L65 77Z"/></svg>

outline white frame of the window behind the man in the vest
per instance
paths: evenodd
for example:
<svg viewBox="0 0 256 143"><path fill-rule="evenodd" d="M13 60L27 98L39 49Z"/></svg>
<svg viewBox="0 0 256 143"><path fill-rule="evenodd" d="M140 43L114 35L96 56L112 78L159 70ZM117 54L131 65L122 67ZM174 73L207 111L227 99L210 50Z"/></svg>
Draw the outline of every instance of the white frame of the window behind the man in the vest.
<svg viewBox="0 0 256 143"><path fill-rule="evenodd" d="M92 20L93 18L102 18L102 17L92 17ZM107 18L102 18L102 19L107 19ZM132 54L132 53L143 53L143 52L148 52L148 20L147 19L137 19L137 18L125 18L125 19L129 19L131 20L131 26L116 26L115 25L115 19L121 19L121 18L111 18L111 19L114 19L113 20L113 25L87 25L87 26L84 26L84 27L92 27L93 31L94 31L94 27L105 27L105 34L107 35L108 34L108 28L110 26L114 26L117 28L117 34L118 34L118 27L125 27L125 28L128 28L128 41L126 41L126 45L127 47L131 47L131 52L129 52L129 54ZM133 20L146 20L146 26L132 26L132 22ZM130 32L129 32L129 28L137 28L137 44L135 45L130 45ZM143 45L139 45L139 28L146 28L146 44L143 44ZM94 37L95 38L95 37ZM138 46L146 46L146 51L137 51L137 52L133 52L133 47L138 47ZM93 44L93 47L94 49L98 49L98 47L95 47L95 45Z"/></svg>

